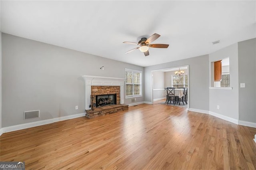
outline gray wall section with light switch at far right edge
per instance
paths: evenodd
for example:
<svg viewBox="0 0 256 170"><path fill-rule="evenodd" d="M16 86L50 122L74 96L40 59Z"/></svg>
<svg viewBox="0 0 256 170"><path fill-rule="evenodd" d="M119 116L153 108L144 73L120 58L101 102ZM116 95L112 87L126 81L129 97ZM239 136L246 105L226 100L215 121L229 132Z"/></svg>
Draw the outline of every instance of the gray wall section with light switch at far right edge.
<svg viewBox="0 0 256 170"><path fill-rule="evenodd" d="M256 38L238 42L238 76L239 120L256 123Z"/></svg>

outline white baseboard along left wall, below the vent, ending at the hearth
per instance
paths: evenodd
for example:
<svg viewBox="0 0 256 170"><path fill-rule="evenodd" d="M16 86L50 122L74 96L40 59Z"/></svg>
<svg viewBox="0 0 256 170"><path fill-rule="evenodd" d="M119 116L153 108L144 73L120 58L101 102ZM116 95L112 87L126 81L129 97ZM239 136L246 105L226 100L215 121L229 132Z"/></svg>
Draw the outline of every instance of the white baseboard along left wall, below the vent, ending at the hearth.
<svg viewBox="0 0 256 170"><path fill-rule="evenodd" d="M54 122L65 121L68 119L74 119L74 118L84 117L84 116L85 116L85 113L79 113L76 115L68 115L68 116L64 116L64 117L57 117L57 118L47 119L47 120L43 120L43 121L36 121L36 122L24 123L24 124L20 124L20 125L14 125L14 126L10 126L10 127L3 127L1 129L1 132L2 133L12 132L15 130L21 130L24 128L31 128L31 127L41 126L41 125L47 125L47 124L54 123Z"/></svg>

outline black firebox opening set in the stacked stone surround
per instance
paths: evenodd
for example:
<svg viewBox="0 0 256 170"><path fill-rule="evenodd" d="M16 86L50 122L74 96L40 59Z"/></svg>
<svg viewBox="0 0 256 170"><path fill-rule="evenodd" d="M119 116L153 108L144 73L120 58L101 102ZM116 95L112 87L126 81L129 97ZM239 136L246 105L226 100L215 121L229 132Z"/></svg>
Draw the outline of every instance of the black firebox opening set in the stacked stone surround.
<svg viewBox="0 0 256 170"><path fill-rule="evenodd" d="M96 95L95 98L96 107L116 104L116 94Z"/></svg>

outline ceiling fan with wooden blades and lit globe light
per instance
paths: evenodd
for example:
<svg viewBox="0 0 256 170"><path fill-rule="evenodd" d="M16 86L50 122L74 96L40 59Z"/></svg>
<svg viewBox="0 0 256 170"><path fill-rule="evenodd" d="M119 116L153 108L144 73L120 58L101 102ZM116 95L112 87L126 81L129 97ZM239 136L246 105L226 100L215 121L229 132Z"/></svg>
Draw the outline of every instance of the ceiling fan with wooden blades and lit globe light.
<svg viewBox="0 0 256 170"><path fill-rule="evenodd" d="M162 43L150 44L153 41L155 41L156 39L158 39L159 37L160 37L160 35L155 33L152 36L150 36L149 38L142 38L138 43L123 42L123 43L128 43L128 44L140 45L140 47L136 47L134 49L131 49L131 50L127 51L126 53L130 53L130 52L139 48L141 52L144 52L145 56L148 56L149 55L149 52L148 52L149 47L152 47L152 48L168 48L169 44L162 44Z"/></svg>

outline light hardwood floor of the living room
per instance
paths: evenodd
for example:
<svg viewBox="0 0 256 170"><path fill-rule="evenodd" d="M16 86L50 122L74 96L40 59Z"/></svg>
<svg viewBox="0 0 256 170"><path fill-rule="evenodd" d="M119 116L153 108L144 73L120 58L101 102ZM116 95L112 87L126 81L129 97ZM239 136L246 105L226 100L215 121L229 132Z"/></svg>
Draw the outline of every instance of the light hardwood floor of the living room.
<svg viewBox="0 0 256 170"><path fill-rule="evenodd" d="M0 136L0 161L26 169L256 168L256 128L162 104Z"/></svg>

